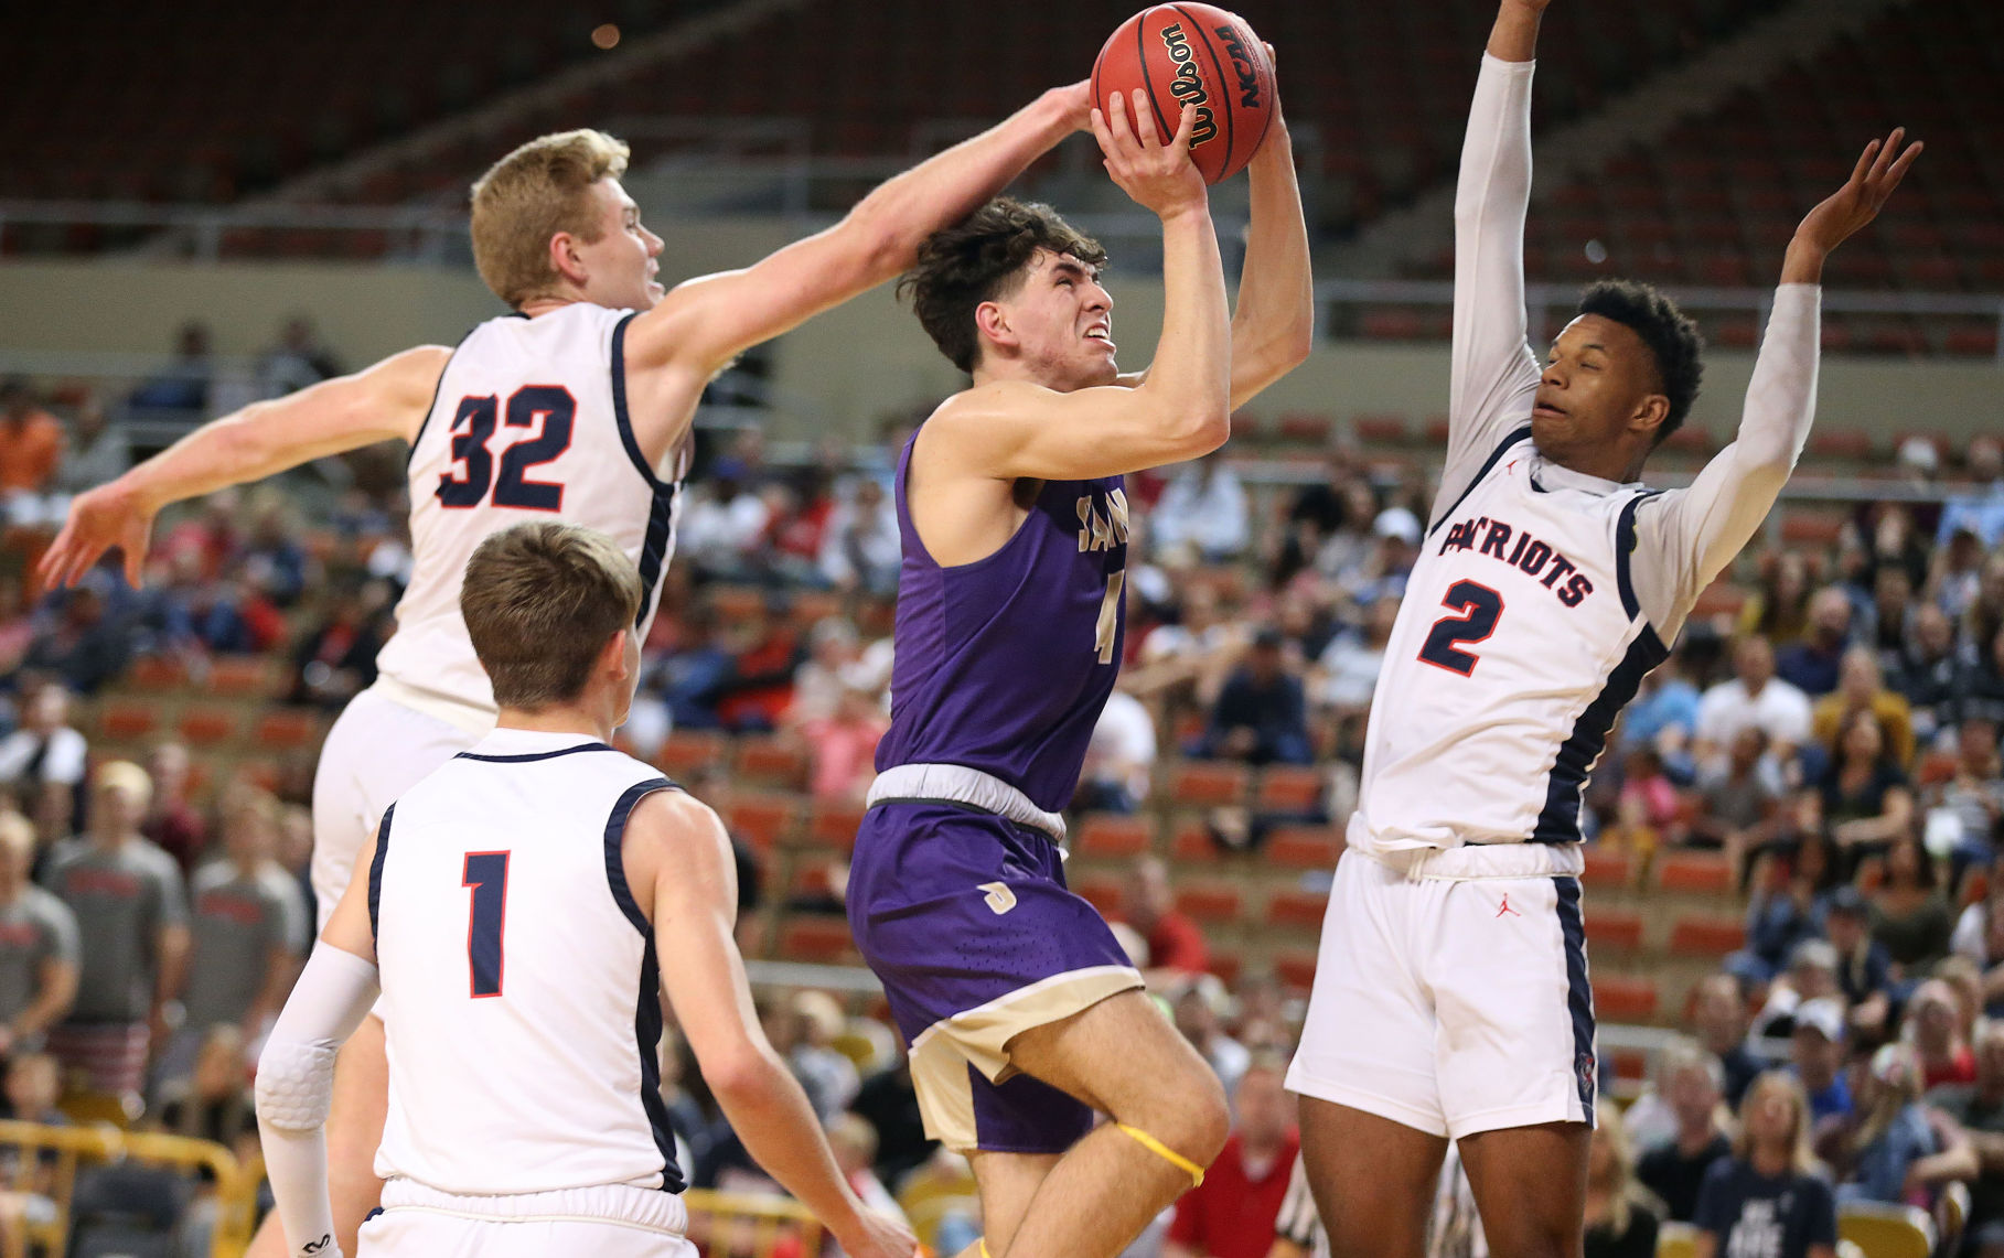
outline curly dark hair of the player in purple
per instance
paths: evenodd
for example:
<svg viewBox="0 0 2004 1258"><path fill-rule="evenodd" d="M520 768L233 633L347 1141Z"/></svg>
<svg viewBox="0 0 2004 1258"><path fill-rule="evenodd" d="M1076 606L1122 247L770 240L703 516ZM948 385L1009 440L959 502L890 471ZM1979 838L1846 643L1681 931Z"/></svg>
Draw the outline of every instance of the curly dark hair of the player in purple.
<svg viewBox="0 0 2004 1258"><path fill-rule="evenodd" d="M1046 248L1102 266L1106 250L1040 202L998 196L954 226L940 228L918 246L918 260L898 280L898 296L954 367L974 371L982 339L974 310L984 300L1014 292L1024 266Z"/></svg>

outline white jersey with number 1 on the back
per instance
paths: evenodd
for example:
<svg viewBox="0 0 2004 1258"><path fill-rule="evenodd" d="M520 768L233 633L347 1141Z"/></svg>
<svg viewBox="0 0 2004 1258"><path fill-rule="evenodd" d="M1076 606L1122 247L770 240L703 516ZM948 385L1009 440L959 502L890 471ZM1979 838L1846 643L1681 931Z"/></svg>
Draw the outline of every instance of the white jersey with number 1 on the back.
<svg viewBox="0 0 2004 1258"><path fill-rule="evenodd" d="M633 805L669 787L589 737L495 729L383 813L379 1176L475 1196L681 1192L653 931L619 857Z"/></svg>

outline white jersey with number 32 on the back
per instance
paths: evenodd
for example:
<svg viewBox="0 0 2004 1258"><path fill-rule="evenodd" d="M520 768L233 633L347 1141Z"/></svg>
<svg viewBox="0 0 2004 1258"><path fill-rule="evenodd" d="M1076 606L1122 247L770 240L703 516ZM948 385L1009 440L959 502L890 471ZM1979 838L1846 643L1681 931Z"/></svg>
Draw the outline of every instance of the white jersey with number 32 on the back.
<svg viewBox="0 0 2004 1258"><path fill-rule="evenodd" d="M485 729L495 703L459 617L473 547L529 519L609 535L639 565L639 629L675 551L673 481L633 439L625 407L631 310L573 302L473 329L439 377L411 447L411 585L377 667L413 705Z"/></svg>

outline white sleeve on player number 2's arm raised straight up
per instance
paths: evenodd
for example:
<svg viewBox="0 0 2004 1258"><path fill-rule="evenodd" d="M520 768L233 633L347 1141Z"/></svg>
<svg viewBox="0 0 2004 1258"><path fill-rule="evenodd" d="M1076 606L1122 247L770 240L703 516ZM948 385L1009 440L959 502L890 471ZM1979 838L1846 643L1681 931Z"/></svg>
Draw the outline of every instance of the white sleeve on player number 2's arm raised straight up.
<svg viewBox="0 0 2004 1258"><path fill-rule="evenodd" d="M1523 218L1531 204L1531 70L1483 54L1455 184L1455 349L1447 463L1433 515L1495 447L1531 423L1539 369L1525 345Z"/></svg>

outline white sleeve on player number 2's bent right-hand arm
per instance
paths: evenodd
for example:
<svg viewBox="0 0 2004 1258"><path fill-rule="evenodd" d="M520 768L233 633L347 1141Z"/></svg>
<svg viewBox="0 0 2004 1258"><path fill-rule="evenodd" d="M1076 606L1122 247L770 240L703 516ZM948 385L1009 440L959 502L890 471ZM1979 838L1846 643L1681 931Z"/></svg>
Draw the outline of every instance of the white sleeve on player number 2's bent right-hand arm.
<svg viewBox="0 0 2004 1258"><path fill-rule="evenodd" d="M1683 625L1697 595L1760 531L1796 471L1816 419L1822 300L1816 284L1776 288L1739 437L1689 489L1647 499L1635 511L1635 599L1665 641Z"/></svg>

